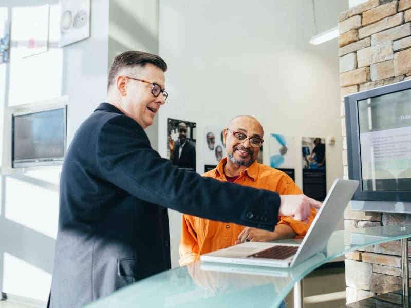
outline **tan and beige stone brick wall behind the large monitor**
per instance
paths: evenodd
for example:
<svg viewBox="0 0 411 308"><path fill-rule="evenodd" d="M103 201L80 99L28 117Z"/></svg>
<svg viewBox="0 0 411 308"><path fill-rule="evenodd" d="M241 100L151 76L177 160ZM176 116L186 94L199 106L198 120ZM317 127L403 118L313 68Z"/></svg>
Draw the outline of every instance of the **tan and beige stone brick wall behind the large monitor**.
<svg viewBox="0 0 411 308"><path fill-rule="evenodd" d="M339 16L344 177L348 178L344 96L411 79L411 0L369 0ZM411 215L353 212L344 228L411 224ZM411 245L409 245L411 246ZM410 251L411 252L411 251ZM355 251L345 259L347 302L402 288L400 242Z"/></svg>

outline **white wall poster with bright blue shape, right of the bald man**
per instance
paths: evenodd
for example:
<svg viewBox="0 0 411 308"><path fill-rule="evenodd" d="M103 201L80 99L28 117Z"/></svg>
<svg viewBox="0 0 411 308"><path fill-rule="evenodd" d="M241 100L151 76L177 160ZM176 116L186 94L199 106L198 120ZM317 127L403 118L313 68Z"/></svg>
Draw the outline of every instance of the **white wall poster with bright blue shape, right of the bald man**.
<svg viewBox="0 0 411 308"><path fill-rule="evenodd" d="M270 167L281 170L295 181L294 137L270 133Z"/></svg>

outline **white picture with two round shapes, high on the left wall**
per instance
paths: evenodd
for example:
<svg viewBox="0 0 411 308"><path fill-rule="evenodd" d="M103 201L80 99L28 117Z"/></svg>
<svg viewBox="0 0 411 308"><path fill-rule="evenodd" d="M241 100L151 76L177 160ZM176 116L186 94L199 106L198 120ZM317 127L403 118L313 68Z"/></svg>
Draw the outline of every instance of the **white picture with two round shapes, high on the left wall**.
<svg viewBox="0 0 411 308"><path fill-rule="evenodd" d="M60 0L59 47L90 36L90 0Z"/></svg>

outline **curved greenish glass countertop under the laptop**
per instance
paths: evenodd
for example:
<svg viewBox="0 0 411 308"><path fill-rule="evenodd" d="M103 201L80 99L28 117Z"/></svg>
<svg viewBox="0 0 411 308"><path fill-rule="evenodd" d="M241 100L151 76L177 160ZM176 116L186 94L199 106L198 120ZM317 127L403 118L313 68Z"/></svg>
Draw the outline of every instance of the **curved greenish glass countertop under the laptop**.
<svg viewBox="0 0 411 308"><path fill-rule="evenodd" d="M315 268L359 248L411 237L411 226L406 227L335 231L323 252L289 269L198 261L140 280L87 307L277 307Z"/></svg>

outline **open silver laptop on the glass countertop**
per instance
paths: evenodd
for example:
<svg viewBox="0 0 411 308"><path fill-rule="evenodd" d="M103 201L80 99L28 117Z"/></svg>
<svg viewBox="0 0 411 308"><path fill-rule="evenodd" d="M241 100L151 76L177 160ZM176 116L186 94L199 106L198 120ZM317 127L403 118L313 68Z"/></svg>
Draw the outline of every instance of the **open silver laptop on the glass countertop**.
<svg viewBox="0 0 411 308"><path fill-rule="evenodd" d="M357 186L355 180L334 181L301 244L246 242L201 255L200 260L271 267L300 264L326 247ZM278 253L281 256L273 256Z"/></svg>

